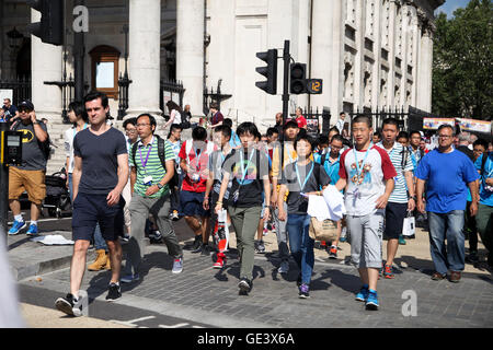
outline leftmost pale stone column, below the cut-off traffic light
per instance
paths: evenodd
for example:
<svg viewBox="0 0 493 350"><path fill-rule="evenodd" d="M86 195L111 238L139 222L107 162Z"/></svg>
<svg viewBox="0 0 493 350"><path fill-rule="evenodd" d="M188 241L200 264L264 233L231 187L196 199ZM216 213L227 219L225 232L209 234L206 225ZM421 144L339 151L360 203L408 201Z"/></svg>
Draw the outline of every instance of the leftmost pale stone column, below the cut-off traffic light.
<svg viewBox="0 0 493 350"><path fill-rule="evenodd" d="M41 13L31 11L32 22L41 21ZM61 89L45 85L45 81L61 81L61 46L43 43L31 36L32 102L38 119L61 122Z"/></svg>

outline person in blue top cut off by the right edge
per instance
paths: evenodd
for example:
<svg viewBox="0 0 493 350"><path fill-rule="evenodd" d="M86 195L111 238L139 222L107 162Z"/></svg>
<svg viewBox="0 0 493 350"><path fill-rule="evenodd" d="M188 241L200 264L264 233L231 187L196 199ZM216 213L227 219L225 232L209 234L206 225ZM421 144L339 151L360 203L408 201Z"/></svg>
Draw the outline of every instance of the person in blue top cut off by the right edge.
<svg viewBox="0 0 493 350"><path fill-rule="evenodd" d="M484 158L488 158L484 161ZM493 267L493 152L484 152L475 163L480 172L480 202L475 224L488 249L488 265Z"/></svg>

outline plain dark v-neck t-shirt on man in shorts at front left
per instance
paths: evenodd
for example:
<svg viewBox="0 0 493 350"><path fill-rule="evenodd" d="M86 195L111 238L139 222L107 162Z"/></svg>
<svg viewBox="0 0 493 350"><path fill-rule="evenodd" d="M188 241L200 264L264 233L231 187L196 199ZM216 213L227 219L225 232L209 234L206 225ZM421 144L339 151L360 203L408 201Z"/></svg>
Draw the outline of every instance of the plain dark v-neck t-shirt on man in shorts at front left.
<svg viewBox="0 0 493 350"><path fill-rule="evenodd" d="M119 154L127 153L124 135L115 128L96 136L84 129L73 139L73 155L82 159L79 192L107 195L118 184Z"/></svg>

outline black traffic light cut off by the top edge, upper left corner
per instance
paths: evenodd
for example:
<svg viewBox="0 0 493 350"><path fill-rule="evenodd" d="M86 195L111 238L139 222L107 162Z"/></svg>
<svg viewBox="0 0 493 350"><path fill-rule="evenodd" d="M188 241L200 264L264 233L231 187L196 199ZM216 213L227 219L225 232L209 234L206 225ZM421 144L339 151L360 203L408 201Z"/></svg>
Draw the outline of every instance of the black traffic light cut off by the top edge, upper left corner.
<svg viewBox="0 0 493 350"><path fill-rule="evenodd" d="M62 45L64 43L64 0L27 0L27 5L42 14L41 22L27 25L27 31L43 43Z"/></svg>

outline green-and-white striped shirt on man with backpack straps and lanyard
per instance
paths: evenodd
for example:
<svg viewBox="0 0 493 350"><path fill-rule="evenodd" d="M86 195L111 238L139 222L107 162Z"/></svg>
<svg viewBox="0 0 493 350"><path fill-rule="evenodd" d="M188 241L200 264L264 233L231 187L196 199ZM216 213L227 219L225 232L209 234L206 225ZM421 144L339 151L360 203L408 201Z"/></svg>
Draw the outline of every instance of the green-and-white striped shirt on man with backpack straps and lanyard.
<svg viewBox="0 0 493 350"><path fill-rule="evenodd" d="M149 159L147 160L147 154L149 152ZM137 143L137 150L135 153L135 164L134 158L130 154L130 166L135 166L137 170L137 179L135 182L134 191L142 197L159 198L162 195L168 194L168 184L164 185L159 191L152 196L146 196L146 190L149 186L144 184L144 178L146 176L152 176L152 185L158 185L158 183L167 174L167 170L162 167L161 160L158 153L158 138L152 137L152 140L145 147L141 141ZM173 149L171 143L164 141L164 161L174 160ZM145 165L145 166L144 166Z"/></svg>

